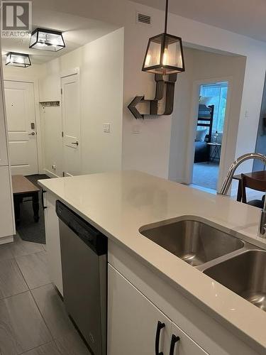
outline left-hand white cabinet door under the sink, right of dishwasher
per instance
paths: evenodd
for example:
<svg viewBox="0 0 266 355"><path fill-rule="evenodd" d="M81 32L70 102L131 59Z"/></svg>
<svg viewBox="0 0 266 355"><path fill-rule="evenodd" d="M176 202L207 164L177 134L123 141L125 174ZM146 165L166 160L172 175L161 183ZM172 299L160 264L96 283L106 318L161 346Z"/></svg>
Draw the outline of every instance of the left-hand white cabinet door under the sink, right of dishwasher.
<svg viewBox="0 0 266 355"><path fill-rule="evenodd" d="M108 355L154 355L158 322L159 351L168 355L171 321L110 264L108 285Z"/></svg>

